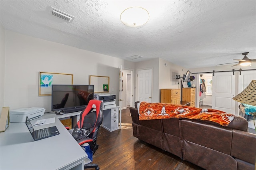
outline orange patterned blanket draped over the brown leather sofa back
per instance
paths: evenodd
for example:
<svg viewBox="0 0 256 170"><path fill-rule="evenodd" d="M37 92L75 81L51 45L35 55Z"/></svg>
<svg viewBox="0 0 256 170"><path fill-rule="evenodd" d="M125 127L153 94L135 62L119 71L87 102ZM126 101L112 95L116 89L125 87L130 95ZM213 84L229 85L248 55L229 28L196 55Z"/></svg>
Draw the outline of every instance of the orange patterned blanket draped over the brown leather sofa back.
<svg viewBox="0 0 256 170"><path fill-rule="evenodd" d="M186 105L176 105L170 103L148 103L139 104L139 120L188 118L200 119L218 123L222 126L234 119L234 115L214 109L200 109Z"/></svg>

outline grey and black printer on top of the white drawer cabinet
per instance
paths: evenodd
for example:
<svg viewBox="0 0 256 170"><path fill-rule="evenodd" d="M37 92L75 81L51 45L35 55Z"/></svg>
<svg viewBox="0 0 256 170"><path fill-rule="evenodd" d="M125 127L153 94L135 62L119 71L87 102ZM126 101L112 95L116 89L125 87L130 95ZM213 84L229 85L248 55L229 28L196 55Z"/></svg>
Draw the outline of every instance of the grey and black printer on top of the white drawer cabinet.
<svg viewBox="0 0 256 170"><path fill-rule="evenodd" d="M102 101L103 108L116 107L116 95L106 93L95 93L96 99Z"/></svg>

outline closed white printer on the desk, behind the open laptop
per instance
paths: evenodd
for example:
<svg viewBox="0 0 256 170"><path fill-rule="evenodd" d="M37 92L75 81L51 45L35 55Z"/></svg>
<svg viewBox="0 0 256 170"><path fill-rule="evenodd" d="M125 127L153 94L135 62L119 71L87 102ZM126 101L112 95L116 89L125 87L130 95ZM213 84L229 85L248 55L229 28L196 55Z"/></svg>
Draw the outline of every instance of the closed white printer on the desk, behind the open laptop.
<svg viewBox="0 0 256 170"><path fill-rule="evenodd" d="M30 108L21 108L10 111L10 122L14 123L24 123L26 117L28 119L36 119L44 115L45 109L42 107L30 107Z"/></svg>

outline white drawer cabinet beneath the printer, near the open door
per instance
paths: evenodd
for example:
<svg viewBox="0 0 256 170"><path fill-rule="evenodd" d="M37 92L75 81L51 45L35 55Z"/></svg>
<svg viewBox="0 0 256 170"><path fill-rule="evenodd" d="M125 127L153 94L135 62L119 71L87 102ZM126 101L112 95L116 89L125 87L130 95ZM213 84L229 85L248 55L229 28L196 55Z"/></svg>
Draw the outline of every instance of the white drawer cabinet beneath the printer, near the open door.
<svg viewBox="0 0 256 170"><path fill-rule="evenodd" d="M103 121L101 126L112 132L119 129L118 119L119 118L119 107L112 107L103 109Z"/></svg>

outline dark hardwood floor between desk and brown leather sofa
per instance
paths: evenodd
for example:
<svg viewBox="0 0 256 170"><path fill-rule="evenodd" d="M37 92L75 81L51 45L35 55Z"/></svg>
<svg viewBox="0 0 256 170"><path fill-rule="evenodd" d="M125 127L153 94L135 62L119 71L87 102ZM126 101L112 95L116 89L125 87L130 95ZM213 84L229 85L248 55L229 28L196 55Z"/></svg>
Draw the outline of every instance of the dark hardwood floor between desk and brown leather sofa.
<svg viewBox="0 0 256 170"><path fill-rule="evenodd" d="M92 163L101 170L203 170L134 137L129 108L122 110L122 129L109 132L100 127L97 143Z"/></svg>

